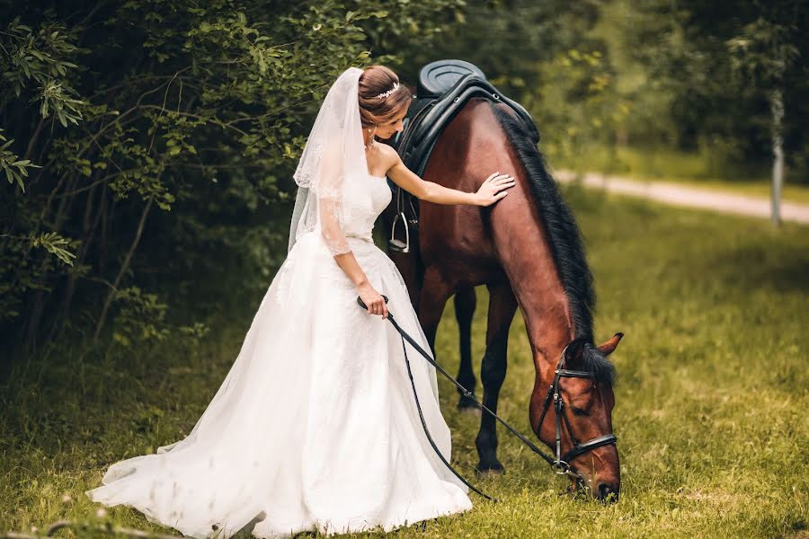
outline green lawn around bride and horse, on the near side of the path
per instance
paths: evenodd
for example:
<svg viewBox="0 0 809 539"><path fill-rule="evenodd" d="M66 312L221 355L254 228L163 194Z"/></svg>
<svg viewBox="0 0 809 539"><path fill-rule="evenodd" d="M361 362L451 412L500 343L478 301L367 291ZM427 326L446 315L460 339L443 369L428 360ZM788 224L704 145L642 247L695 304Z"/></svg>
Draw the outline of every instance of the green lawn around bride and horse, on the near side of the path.
<svg viewBox="0 0 809 539"><path fill-rule="evenodd" d="M605 506L562 495L565 482L499 429L506 473L475 482L502 503L474 497L471 511L396 536L806 536L806 228L775 230L598 191L566 196L596 276L597 336L626 333L611 356L619 374L613 423L621 498ZM480 358L487 296L477 292ZM17 365L0 385L0 530L93 518L99 506L84 490L100 484L112 462L154 452L191 429L260 299L241 317L212 324L218 330L198 349L164 345L136 359L98 360L62 348ZM437 346L453 372L451 301L443 316ZM527 431L533 367L519 311L509 358L500 412ZM459 414L457 393L439 382L453 460L471 475L477 420ZM171 533L129 508L107 511L105 519L120 526Z"/></svg>

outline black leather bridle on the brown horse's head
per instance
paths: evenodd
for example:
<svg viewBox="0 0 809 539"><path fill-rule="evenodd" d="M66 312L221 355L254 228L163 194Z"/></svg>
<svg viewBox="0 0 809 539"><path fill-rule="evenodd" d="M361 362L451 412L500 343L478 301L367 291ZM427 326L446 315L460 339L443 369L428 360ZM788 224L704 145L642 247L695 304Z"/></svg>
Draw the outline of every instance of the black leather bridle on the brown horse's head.
<svg viewBox="0 0 809 539"><path fill-rule="evenodd" d="M585 344L585 347L589 347L590 345ZM573 429L570 427L570 420L567 419L567 414L565 413L565 401L562 400L562 395L559 394L560 386L559 380L562 378L592 378L595 379L595 373L591 373L589 371L577 371L577 370L570 370L567 368L562 368L565 363L565 352L567 351L567 347L562 350L562 353L559 356L559 362L556 364L556 370L554 371L554 381L550 384L547 388L547 395L545 397L545 403L542 405L542 414L539 416L539 423L537 425L537 429L542 429L542 422L545 420L545 416L547 415L547 411L550 410L551 402L554 403L554 414L556 415L556 460L549 462L555 468L557 468L556 473L562 473L567 475L573 475L576 479L581 480L582 477L578 473L573 472L570 467L570 462L579 455L587 453L588 451L592 451L601 446L609 446L615 445L618 442L618 438L613 434L605 434L600 437L594 437L591 440L580 444L576 437L573 436ZM573 442L573 449L562 455L562 424L565 423L565 429L567 429L567 436L570 437L570 440ZM544 455L543 455L544 456ZM547 459L546 459L547 460Z"/></svg>

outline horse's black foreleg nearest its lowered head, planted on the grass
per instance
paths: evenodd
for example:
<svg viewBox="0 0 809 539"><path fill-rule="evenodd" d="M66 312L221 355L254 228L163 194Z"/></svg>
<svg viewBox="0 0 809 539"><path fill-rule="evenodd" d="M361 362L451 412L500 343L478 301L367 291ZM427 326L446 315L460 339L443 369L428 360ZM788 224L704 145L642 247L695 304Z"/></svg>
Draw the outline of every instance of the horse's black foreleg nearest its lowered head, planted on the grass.
<svg viewBox="0 0 809 539"><path fill-rule="evenodd" d="M480 367L480 381L484 387L483 403L497 413L497 400L506 374L506 352L509 343L509 328L517 310L517 299L508 282L487 285L489 289L489 313L486 328L486 353ZM502 464L497 460L497 423L483 413L480 431L475 439L478 473L502 473Z"/></svg>

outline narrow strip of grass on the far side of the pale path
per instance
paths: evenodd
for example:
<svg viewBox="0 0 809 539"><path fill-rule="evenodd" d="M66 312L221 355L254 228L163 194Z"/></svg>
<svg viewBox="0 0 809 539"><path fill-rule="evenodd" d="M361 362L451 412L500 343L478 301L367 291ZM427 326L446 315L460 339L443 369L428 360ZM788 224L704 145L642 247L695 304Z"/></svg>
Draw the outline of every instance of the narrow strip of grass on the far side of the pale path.
<svg viewBox="0 0 809 539"><path fill-rule="evenodd" d="M673 181L698 190L729 193L769 199L769 170L744 168L738 164L715 163L710 157L672 150L644 151L618 147L614 151L595 148L582 159L557 160L557 168L576 172L605 172L637 181ZM782 198L809 204L809 182L789 175L784 181Z"/></svg>

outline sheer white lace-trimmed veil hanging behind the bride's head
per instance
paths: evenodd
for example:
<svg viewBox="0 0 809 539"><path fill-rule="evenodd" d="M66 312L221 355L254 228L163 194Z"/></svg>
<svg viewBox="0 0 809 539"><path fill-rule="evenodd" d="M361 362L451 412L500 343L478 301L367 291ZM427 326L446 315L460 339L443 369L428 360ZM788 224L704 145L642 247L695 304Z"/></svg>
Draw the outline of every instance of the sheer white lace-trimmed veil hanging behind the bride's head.
<svg viewBox="0 0 809 539"><path fill-rule="evenodd" d="M345 207L357 178L368 174L360 123L359 67L349 67L329 88L307 138L294 178L298 184L287 252L301 234L317 229L333 255L350 252Z"/></svg>

